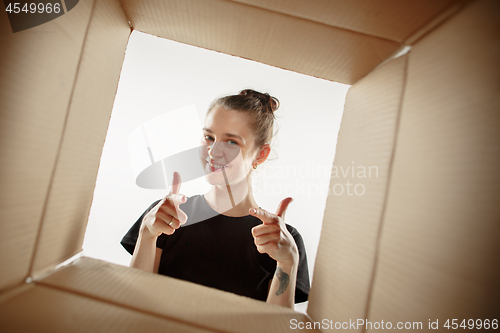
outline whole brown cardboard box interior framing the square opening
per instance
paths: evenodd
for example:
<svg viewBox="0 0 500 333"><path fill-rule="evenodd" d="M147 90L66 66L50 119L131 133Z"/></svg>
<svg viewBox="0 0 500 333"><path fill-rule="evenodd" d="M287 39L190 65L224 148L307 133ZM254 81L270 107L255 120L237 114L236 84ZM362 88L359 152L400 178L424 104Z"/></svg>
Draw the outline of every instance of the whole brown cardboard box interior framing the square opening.
<svg viewBox="0 0 500 333"><path fill-rule="evenodd" d="M90 258L57 268L81 251L132 29L352 84L334 166L379 174L330 195L307 315ZM500 319L498 1L82 0L15 34L2 11L0 32L2 331Z"/></svg>

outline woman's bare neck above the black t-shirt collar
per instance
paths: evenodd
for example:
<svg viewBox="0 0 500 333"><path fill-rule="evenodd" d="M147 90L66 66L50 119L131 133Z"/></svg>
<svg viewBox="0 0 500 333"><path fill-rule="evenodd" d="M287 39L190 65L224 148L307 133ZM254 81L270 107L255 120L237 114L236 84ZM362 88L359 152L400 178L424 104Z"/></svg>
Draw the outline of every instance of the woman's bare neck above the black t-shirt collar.
<svg viewBox="0 0 500 333"><path fill-rule="evenodd" d="M205 194L205 200L217 213L227 216L245 216L250 208L259 207L249 179L230 184L229 190L226 185L214 185Z"/></svg>

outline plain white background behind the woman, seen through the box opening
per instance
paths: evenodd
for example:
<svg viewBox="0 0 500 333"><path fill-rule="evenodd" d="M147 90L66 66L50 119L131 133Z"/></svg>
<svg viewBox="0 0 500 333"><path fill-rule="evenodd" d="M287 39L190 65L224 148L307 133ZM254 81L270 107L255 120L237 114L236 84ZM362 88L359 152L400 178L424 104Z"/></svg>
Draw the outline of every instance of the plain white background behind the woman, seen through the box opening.
<svg viewBox="0 0 500 333"><path fill-rule="evenodd" d="M197 142L211 102L247 88L267 92L281 104L276 112L278 134L273 152L255 172L256 201L274 213L283 198L294 198L286 222L304 239L313 278L349 86L135 31L126 51L103 148L84 255L128 265L131 256L121 247L121 238L153 201L167 194L167 190L147 190L135 184L133 166L137 169L145 162L137 155L131 158L132 131L152 118L191 106L196 108L198 119L186 121L199 126L199 137L194 138ZM186 131L170 131L167 134L177 139L186 135ZM207 190L203 179L181 186L181 193L188 196ZM305 307L296 309L305 311Z"/></svg>

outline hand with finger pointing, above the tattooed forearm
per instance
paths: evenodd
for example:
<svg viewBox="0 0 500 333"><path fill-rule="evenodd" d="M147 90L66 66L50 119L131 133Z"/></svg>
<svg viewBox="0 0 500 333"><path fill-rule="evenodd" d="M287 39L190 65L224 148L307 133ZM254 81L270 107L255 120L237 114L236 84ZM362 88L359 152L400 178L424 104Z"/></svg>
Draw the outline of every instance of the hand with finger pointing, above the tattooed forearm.
<svg viewBox="0 0 500 333"><path fill-rule="evenodd" d="M260 208L251 208L250 214L262 221L261 225L252 228L257 251L267 253L280 264L296 266L299 262L299 251L285 225L285 212L292 201L292 198L283 199L276 214Z"/></svg>

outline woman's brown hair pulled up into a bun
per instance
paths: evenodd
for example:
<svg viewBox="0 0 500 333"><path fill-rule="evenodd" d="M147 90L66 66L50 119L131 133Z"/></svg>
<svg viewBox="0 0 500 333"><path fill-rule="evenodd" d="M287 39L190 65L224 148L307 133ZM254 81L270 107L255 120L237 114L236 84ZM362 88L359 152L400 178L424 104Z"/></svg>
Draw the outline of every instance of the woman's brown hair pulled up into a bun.
<svg viewBox="0 0 500 333"><path fill-rule="evenodd" d="M215 100L207 113L214 107L223 107L227 110L246 112L253 119L252 129L255 134L255 145L262 147L273 137L274 111L279 108L277 98L267 93L260 93L252 89L242 90L238 95L230 95Z"/></svg>

